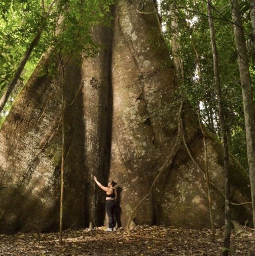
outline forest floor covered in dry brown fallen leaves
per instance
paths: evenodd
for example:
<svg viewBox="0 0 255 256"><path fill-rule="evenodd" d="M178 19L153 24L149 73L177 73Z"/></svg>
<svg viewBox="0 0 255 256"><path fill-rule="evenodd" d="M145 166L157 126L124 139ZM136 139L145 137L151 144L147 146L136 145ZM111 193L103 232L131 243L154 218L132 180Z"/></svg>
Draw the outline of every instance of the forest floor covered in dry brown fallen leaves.
<svg viewBox="0 0 255 256"><path fill-rule="evenodd" d="M140 239L129 236L125 228L113 232L104 227L93 230L66 230L63 245L58 233L17 233L0 235L0 256L165 256L165 255L221 255L223 229L216 229L216 241L211 241L209 229L197 230L163 226L137 226L133 234L167 238ZM246 236L231 235L229 255L254 255L255 236L245 228Z"/></svg>

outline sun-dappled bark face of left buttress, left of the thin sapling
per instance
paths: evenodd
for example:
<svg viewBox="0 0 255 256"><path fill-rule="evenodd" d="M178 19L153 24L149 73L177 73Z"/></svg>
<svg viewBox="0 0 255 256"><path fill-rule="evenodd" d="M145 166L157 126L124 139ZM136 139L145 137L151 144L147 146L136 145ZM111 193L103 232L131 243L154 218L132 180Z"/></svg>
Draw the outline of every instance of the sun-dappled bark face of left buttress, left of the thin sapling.
<svg viewBox="0 0 255 256"><path fill-rule="evenodd" d="M44 146L57 129L61 113L55 114L61 106L59 77L52 80L47 75L52 56L47 53L41 58L0 131L1 183L6 187L0 191L1 231L47 228L57 217L52 215L58 197L52 160L59 160L48 157ZM41 75L44 70L46 74Z"/></svg>

